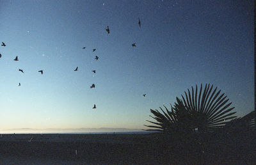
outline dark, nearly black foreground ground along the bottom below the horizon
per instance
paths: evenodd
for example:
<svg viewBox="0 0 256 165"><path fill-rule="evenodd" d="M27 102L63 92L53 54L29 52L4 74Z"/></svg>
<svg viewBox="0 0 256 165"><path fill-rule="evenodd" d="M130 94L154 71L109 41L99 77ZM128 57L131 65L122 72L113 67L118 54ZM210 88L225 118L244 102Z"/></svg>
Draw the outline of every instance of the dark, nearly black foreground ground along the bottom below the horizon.
<svg viewBox="0 0 256 165"><path fill-rule="evenodd" d="M4 134L0 164L256 164L255 148L255 134Z"/></svg>

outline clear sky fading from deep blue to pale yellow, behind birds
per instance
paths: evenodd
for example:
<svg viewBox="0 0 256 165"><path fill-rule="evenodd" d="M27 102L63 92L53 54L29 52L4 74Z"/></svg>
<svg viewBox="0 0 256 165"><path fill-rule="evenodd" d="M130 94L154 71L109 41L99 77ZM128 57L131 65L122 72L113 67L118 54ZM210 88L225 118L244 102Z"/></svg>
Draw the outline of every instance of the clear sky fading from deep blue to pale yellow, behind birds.
<svg viewBox="0 0 256 165"><path fill-rule="evenodd" d="M218 87L244 116L254 109L253 7L2 0L0 130L147 129L150 109L170 107L201 83Z"/></svg>

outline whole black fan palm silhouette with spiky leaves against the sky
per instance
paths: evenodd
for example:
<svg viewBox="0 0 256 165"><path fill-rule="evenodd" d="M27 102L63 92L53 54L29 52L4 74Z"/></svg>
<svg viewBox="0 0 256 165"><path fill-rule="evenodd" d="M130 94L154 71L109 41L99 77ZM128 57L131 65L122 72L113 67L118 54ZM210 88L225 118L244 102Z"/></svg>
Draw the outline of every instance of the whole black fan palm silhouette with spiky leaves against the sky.
<svg viewBox="0 0 256 165"><path fill-rule="evenodd" d="M154 114L154 118L157 122L147 122L154 123L155 125L145 125L154 129L147 130L157 130L159 132L192 132L198 129L199 132L211 131L220 127L223 127L225 123L230 122L230 120L236 118L233 114L236 112L230 112L234 107L228 108L232 102L228 103L229 99L227 96L223 97L225 93L220 95L221 90L217 91L217 88L212 90L213 86L210 88L210 84L205 84L203 91L202 84L200 86L200 91L198 93L198 88L196 85L195 92L192 87L192 92L188 90L185 91L185 98L176 98L177 103L169 111L165 106L166 112L160 107L161 111L150 109L151 113ZM203 91L203 92L202 92Z"/></svg>

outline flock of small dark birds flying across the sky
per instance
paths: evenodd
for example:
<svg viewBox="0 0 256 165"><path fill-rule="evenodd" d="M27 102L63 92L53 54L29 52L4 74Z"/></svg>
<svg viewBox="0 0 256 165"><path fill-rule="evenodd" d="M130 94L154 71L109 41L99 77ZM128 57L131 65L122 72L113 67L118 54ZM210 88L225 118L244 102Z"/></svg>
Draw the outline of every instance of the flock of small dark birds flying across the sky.
<svg viewBox="0 0 256 165"><path fill-rule="evenodd" d="M141 28L141 21L140 21L140 18L139 18L138 24L139 24L139 26L140 26L140 28ZM106 31L108 32L108 34L110 33L109 26L108 26L108 28L106 29ZM2 47L5 47L6 44L5 44L4 42L2 42L1 46L2 46ZM132 47L136 47L136 43L132 43ZM86 49L86 47L83 47L83 49ZM96 49L93 49L92 51L95 52ZM0 58L1 58L1 57L2 57L2 54L0 53ZM99 57L98 57L98 56L95 56L95 59L98 60ZM14 60L14 61L19 61L18 56L16 56L16 58L13 59L13 60ZM78 70L78 67L76 67L76 69L75 69L74 71L76 72L77 70ZM20 69L20 68L19 68L19 72L22 72L22 73L24 74L23 70ZM43 73L44 73L44 70L38 70L38 72L41 72L41 74L43 74ZM96 70L92 70L92 72L95 74L95 73L96 73ZM19 83L19 86L20 86L20 83ZM95 84L92 84L92 86L90 86L90 88L95 88ZM146 94L143 94L143 97L145 97L145 96L146 96ZM94 106L93 106L92 108L93 108L93 109L96 109L96 105L94 104Z"/></svg>

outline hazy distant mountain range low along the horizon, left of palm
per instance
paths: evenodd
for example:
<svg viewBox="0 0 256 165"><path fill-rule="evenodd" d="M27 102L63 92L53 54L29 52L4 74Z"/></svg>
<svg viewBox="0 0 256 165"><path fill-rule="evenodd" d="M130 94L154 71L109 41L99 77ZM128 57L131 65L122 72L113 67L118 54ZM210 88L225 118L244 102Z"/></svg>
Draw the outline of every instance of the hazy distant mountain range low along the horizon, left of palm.
<svg viewBox="0 0 256 165"><path fill-rule="evenodd" d="M4 129L3 132L137 132L141 129L125 129L125 128L79 128L79 129Z"/></svg>

